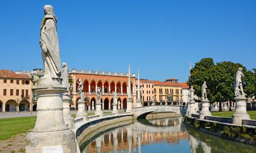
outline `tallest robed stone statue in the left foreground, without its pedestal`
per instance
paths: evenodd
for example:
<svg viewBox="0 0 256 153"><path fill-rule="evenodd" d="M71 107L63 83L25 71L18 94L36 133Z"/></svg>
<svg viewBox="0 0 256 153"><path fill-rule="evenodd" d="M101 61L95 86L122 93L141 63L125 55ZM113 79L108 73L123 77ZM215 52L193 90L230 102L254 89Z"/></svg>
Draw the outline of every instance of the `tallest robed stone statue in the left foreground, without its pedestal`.
<svg viewBox="0 0 256 153"><path fill-rule="evenodd" d="M42 19L39 40L42 61L45 67L44 78L55 80L61 77L57 18L51 5L46 5L44 11L45 17Z"/></svg>

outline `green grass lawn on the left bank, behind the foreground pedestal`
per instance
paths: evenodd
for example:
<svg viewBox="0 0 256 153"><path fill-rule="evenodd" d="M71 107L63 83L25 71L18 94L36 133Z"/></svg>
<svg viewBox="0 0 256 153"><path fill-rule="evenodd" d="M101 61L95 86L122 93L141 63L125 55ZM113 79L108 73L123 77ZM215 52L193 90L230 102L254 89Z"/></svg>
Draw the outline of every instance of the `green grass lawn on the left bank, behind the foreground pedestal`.
<svg viewBox="0 0 256 153"><path fill-rule="evenodd" d="M103 112L109 114L111 112ZM94 113L88 113L88 115L94 115ZM72 117L76 117L72 114ZM0 119L0 140L6 140L12 136L25 133L26 131L33 129L36 122L36 116L30 117L15 117L15 118L1 118Z"/></svg>

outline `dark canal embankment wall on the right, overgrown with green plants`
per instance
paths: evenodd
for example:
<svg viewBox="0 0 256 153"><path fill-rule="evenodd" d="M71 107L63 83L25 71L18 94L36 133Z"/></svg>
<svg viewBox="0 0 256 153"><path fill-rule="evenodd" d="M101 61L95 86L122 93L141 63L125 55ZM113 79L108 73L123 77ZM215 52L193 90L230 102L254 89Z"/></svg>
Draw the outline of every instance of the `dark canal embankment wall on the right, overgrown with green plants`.
<svg viewBox="0 0 256 153"><path fill-rule="evenodd" d="M185 116L184 123L195 130L216 135L224 139L256 145L256 120L243 119L242 124L232 124L232 118L205 116L198 114Z"/></svg>

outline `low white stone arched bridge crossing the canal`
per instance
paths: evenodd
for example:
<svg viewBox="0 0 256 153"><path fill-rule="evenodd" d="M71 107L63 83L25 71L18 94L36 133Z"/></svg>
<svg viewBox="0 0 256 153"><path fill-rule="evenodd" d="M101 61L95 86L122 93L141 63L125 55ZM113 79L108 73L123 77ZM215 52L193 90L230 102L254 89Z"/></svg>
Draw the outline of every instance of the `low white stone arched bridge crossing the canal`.
<svg viewBox="0 0 256 153"><path fill-rule="evenodd" d="M161 111L161 112L175 112L181 114L182 116L186 115L187 106L179 105L154 105L154 106L143 106L132 109L135 118L145 118L147 114L152 112Z"/></svg>

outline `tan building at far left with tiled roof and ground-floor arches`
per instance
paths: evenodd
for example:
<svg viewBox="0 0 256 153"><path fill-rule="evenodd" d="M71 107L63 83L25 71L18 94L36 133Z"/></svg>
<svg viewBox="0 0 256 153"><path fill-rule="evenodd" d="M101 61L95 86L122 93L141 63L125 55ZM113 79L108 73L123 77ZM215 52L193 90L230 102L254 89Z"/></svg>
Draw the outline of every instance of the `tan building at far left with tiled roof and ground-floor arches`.
<svg viewBox="0 0 256 153"><path fill-rule="evenodd" d="M32 110L32 78L12 70L0 70L0 111Z"/></svg>

